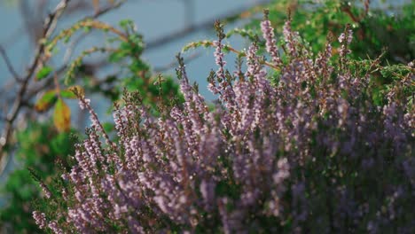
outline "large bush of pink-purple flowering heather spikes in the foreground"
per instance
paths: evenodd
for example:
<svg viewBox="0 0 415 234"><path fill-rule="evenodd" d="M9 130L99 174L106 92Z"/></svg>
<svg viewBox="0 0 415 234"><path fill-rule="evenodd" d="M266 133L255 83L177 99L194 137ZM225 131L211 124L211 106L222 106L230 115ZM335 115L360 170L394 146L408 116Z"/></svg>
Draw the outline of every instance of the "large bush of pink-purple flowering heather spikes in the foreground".
<svg viewBox="0 0 415 234"><path fill-rule="evenodd" d="M269 21L262 30L277 59ZM93 124L75 145L76 163L62 175L66 185L52 194L65 204L61 215L35 212L39 227L82 233L414 231L408 205L415 202L415 108L403 91L414 75L404 74L377 105L369 68L362 73L345 52L341 69L333 66L329 43L314 58L291 30L287 22L287 53L275 82L256 43L246 51L246 73L226 72L220 31L219 70L208 79L216 105L189 84L179 59L184 103L154 115L137 93L127 94L114 112L114 143L80 97ZM339 38L344 48L349 37Z"/></svg>

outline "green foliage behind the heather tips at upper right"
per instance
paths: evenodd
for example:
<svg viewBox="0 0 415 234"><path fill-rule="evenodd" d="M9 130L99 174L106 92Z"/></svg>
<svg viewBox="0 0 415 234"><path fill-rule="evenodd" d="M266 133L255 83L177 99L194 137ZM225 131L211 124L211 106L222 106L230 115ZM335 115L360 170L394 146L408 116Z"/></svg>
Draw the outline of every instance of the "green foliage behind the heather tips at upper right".
<svg viewBox="0 0 415 234"><path fill-rule="evenodd" d="M393 4L390 1L390 4ZM287 18L287 10L292 25L301 32L301 37L309 43L312 51L325 47L327 35L340 35L349 24L355 32L356 40L350 45L352 58L377 58L383 51L389 63L409 63L415 58L415 2L410 1L396 9L382 10L372 4L366 12L361 2L329 1L273 1L267 6L269 19L276 28L277 35ZM392 8L392 7L391 7ZM239 34L250 40L262 35L258 27L262 19L252 20L245 27L232 30L228 36ZM263 43L260 43L263 46Z"/></svg>

